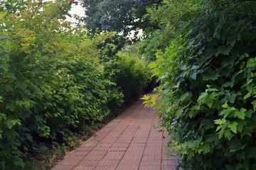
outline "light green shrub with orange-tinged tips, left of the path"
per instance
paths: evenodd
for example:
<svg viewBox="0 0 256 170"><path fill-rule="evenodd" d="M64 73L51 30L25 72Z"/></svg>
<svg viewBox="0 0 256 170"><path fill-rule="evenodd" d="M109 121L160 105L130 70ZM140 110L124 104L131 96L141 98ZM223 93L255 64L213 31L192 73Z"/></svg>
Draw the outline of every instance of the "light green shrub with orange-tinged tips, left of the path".
<svg viewBox="0 0 256 170"><path fill-rule="evenodd" d="M72 147L73 130L122 103L95 42L63 21L69 4L1 2L0 169L52 143Z"/></svg>

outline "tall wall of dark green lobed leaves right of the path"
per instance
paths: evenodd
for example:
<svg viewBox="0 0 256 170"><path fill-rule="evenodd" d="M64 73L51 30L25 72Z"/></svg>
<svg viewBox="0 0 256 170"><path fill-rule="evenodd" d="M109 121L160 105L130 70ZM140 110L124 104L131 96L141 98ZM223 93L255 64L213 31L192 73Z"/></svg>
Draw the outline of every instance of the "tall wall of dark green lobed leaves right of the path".
<svg viewBox="0 0 256 170"><path fill-rule="evenodd" d="M171 42L151 67L172 154L183 169L256 169L255 1L164 4L151 18Z"/></svg>

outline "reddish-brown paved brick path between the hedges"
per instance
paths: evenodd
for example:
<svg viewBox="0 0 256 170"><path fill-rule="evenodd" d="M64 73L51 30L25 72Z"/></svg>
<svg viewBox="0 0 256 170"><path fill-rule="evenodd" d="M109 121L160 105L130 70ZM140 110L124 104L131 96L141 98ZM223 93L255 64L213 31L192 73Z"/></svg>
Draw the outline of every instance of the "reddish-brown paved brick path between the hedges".
<svg viewBox="0 0 256 170"><path fill-rule="evenodd" d="M165 156L169 140L159 132L156 111L139 100L94 137L68 154L53 170L172 170L176 159Z"/></svg>

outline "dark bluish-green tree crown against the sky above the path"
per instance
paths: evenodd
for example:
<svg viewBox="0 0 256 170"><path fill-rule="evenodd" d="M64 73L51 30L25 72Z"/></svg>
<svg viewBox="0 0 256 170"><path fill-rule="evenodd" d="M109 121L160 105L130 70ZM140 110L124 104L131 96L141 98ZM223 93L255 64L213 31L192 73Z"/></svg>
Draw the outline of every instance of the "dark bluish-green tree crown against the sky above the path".
<svg viewBox="0 0 256 170"><path fill-rule="evenodd" d="M83 0L82 6L86 9L85 22L91 35L99 31L115 31L122 33L125 38L134 30L157 27L144 18L146 8L161 4L162 0ZM158 28L158 27L157 27Z"/></svg>

